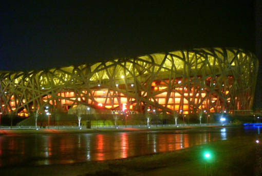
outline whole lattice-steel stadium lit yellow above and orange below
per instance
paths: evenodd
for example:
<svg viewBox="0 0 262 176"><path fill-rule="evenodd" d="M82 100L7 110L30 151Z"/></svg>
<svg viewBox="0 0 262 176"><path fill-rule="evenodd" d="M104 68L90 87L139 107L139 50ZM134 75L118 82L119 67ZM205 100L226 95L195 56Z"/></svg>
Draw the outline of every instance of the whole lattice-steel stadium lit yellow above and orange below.
<svg viewBox="0 0 262 176"><path fill-rule="evenodd" d="M132 113L250 110L258 60L236 48L200 48L95 64L1 71L1 112L29 116L80 104Z"/></svg>

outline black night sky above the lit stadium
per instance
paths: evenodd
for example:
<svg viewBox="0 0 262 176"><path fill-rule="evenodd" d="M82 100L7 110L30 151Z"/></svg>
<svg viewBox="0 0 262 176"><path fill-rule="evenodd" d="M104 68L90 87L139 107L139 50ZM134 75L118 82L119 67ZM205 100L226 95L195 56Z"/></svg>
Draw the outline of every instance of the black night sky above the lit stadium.
<svg viewBox="0 0 262 176"><path fill-rule="evenodd" d="M78 65L194 47L255 52L252 1L2 6L0 70Z"/></svg>

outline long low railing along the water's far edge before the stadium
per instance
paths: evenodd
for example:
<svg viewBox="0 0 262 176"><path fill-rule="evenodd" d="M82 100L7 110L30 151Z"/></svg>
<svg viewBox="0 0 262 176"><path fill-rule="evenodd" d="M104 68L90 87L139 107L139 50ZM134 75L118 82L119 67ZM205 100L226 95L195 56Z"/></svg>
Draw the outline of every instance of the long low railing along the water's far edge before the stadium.
<svg viewBox="0 0 262 176"><path fill-rule="evenodd" d="M110 126L96 126L92 125L92 129L96 128L161 128L161 127L203 127L203 126L224 126L227 124L221 124L221 123L216 123L216 124L164 124L164 125L110 125ZM0 126L0 129L41 129L40 126L35 127L35 126ZM43 129L43 128L42 128ZM79 129L79 126L46 126L45 129ZM86 126L81 126L81 129L86 129Z"/></svg>

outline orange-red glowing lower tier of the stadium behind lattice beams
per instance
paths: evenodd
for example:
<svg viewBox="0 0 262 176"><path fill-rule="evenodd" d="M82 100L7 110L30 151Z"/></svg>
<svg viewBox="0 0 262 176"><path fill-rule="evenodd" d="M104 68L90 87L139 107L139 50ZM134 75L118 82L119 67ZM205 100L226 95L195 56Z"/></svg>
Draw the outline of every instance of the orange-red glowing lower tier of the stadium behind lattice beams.
<svg viewBox="0 0 262 176"><path fill-rule="evenodd" d="M217 79L219 77L217 76ZM192 80L189 80L192 82ZM184 82L188 82L185 81ZM181 79L171 80L157 80L152 82L151 86L146 86L147 90L137 91L135 84L116 85L116 89L112 90L105 88L103 85L98 85L88 90L69 90L60 91L55 96L49 90L43 90L46 95L40 99L41 104L49 106L51 111L60 109L61 112L67 112L68 109L76 107L79 104L86 105L103 111L110 109L116 111L133 111L134 113L147 112L166 112L173 113L176 111L181 114L198 113L200 110L205 112L224 112L232 113L234 110L243 108L239 96L234 92L233 84L235 80L232 76L227 76L227 80L218 83L208 77L201 81L201 77L196 81L201 83L183 84ZM204 83L204 84L203 84ZM127 87L126 87L127 86ZM243 93L243 92L242 92ZM249 92L245 92L245 96L250 97ZM15 111L18 104L26 103L30 99L20 100L10 97L8 104L8 111ZM32 102L27 104L30 111L39 109ZM2 108L5 104L2 104ZM29 113L26 108L21 108L17 113L20 116L28 116Z"/></svg>

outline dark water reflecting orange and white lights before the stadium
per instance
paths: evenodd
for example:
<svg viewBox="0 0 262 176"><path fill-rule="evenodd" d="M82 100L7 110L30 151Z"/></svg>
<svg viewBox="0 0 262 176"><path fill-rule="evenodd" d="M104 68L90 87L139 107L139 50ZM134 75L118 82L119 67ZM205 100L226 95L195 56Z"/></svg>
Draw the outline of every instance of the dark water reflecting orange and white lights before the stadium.
<svg viewBox="0 0 262 176"><path fill-rule="evenodd" d="M0 167L103 161L257 135L258 127L205 130L0 135Z"/></svg>

